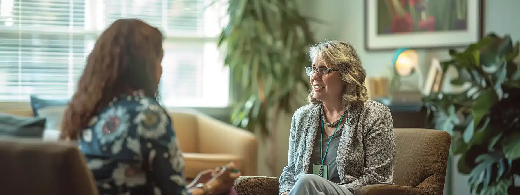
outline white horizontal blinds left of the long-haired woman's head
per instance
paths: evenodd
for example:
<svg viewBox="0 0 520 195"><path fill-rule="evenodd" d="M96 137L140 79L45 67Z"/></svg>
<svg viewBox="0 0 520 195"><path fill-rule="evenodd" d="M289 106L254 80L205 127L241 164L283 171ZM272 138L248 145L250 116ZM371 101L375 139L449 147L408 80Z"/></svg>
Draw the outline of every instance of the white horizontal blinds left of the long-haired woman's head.
<svg viewBox="0 0 520 195"><path fill-rule="evenodd" d="M0 101L66 98L87 52L85 1L0 0Z"/></svg>

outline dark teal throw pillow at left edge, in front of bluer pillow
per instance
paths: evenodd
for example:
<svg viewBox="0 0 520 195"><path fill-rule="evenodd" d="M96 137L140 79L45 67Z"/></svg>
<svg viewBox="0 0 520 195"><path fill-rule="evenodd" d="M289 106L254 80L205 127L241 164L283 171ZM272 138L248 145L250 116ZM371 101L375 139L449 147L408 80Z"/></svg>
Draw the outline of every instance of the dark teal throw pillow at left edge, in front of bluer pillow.
<svg viewBox="0 0 520 195"><path fill-rule="evenodd" d="M42 138L45 118L0 113L0 136Z"/></svg>

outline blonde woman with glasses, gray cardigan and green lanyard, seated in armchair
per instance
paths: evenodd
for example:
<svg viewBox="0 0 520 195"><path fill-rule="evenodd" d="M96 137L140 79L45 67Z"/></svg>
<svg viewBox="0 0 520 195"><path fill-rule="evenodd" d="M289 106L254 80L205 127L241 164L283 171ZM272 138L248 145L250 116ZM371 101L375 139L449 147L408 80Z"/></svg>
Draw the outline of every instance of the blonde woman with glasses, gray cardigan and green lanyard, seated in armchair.
<svg viewBox="0 0 520 195"><path fill-rule="evenodd" d="M354 194L393 184L396 138L388 107L367 97L366 71L342 41L310 49L313 89L292 119L280 194Z"/></svg>

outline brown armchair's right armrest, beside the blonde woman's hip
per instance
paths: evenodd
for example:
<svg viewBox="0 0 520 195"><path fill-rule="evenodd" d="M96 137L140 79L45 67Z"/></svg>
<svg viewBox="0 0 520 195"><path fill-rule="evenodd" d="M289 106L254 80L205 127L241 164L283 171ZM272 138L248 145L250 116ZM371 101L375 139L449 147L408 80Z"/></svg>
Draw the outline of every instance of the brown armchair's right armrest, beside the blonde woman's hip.
<svg viewBox="0 0 520 195"><path fill-rule="evenodd" d="M444 179L441 180L444 182ZM387 184L374 184L362 186L356 189L354 195L379 195L379 194L436 194L438 189L433 189L433 184L440 182L438 175L431 175L424 179L417 187L397 186ZM442 190L441 190L442 191Z"/></svg>

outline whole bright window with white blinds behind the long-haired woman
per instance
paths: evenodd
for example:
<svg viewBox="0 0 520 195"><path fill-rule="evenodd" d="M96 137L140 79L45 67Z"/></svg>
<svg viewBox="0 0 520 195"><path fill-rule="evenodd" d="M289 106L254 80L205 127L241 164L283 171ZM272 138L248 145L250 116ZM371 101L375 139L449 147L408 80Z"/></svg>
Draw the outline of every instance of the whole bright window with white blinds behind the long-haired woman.
<svg viewBox="0 0 520 195"><path fill-rule="evenodd" d="M0 101L69 98L97 34L135 17L166 36L161 99L167 106L228 103L211 0L0 0ZM219 88L217 88L219 87Z"/></svg>

